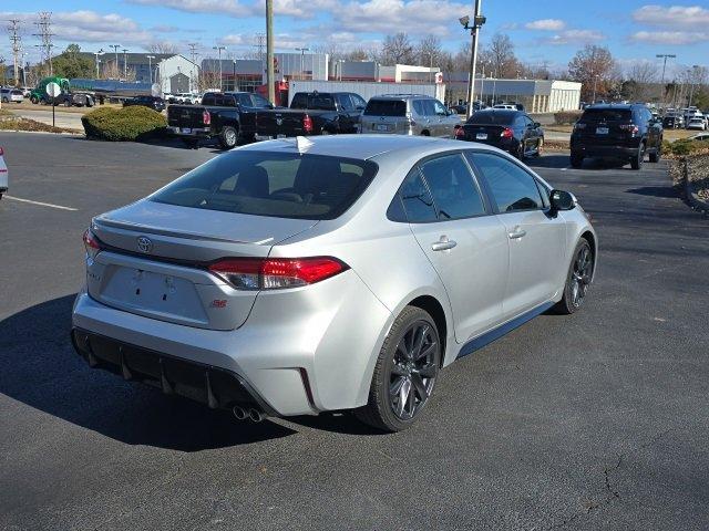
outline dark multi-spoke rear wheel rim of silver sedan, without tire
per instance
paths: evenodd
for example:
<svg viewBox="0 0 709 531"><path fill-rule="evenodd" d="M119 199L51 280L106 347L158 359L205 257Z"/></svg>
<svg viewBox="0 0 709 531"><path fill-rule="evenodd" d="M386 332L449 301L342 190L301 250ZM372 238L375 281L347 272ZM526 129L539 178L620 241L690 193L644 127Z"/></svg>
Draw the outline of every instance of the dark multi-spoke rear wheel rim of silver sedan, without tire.
<svg viewBox="0 0 709 531"><path fill-rule="evenodd" d="M438 334L425 321L413 323L399 341L389 377L389 403L401 420L412 419L431 396L439 352Z"/></svg>

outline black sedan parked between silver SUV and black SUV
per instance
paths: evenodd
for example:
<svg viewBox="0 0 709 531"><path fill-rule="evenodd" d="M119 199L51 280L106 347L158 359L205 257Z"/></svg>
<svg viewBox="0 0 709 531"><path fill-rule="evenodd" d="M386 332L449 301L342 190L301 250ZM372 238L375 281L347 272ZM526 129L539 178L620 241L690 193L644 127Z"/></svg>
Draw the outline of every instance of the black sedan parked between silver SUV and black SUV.
<svg viewBox="0 0 709 531"><path fill-rule="evenodd" d="M455 138L489 144L524 158L542 153L544 131L522 111L486 108L476 112L458 127Z"/></svg>

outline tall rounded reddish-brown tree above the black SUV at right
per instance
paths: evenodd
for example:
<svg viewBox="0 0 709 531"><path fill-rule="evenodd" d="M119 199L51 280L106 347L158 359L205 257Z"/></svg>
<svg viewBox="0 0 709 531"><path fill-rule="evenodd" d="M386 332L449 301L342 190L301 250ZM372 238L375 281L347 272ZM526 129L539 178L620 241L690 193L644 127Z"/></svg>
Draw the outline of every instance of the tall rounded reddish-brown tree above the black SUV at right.
<svg viewBox="0 0 709 531"><path fill-rule="evenodd" d="M595 44L586 44L568 63L568 74L582 83L580 96L586 102L593 98L594 86L596 97L607 96L617 80L617 72L610 51Z"/></svg>

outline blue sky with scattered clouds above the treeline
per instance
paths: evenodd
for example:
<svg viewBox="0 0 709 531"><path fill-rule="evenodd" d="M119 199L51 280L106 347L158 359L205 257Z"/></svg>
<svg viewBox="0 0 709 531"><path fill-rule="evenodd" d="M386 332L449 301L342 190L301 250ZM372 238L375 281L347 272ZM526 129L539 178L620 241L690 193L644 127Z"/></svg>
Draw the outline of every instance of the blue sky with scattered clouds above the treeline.
<svg viewBox="0 0 709 531"><path fill-rule="evenodd" d="M467 40L458 18L471 13L472 1L434 0L274 0L276 46L279 51L336 45L347 51L373 46L388 33L405 30L412 40L438 35L444 48L458 51ZM27 58L37 61L37 12L52 11L54 42L78 42L83 50L121 44L143 51L151 42L171 42L187 55L198 44L201 59L212 46L227 54L254 51L255 34L265 31L264 0L32 0L9 6L31 8L1 11L0 18L22 22ZM657 53L674 53L678 65L708 65L709 4L647 1L483 0L487 24L483 43L496 31L507 33L517 56L564 67L586 43L606 45L621 65L657 62ZM9 39L0 53L11 58Z"/></svg>

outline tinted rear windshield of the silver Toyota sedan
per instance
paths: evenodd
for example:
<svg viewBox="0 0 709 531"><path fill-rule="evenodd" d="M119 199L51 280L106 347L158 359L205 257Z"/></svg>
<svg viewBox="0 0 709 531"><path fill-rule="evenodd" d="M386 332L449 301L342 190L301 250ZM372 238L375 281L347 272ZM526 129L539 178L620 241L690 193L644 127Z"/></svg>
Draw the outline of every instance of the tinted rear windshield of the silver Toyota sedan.
<svg viewBox="0 0 709 531"><path fill-rule="evenodd" d="M150 199L255 216L333 219L364 191L377 168L369 160L237 150L193 169Z"/></svg>

